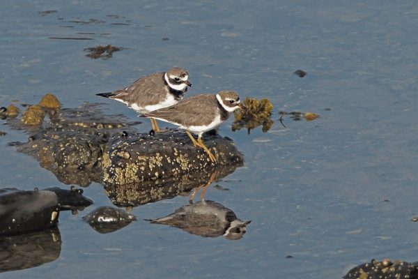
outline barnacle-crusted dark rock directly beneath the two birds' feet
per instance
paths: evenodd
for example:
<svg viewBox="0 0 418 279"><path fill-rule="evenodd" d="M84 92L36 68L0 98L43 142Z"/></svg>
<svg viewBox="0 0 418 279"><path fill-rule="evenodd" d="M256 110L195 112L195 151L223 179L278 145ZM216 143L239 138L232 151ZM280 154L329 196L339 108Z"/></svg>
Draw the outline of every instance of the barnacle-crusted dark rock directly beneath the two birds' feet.
<svg viewBox="0 0 418 279"><path fill-rule="evenodd" d="M243 156L232 140L219 135L203 139L217 158L212 163L203 149L193 146L186 133L165 130L154 136L148 133L113 135L103 154L103 183L127 185L144 181L161 181L192 172L242 164ZM129 153L129 156L126 156Z"/></svg>

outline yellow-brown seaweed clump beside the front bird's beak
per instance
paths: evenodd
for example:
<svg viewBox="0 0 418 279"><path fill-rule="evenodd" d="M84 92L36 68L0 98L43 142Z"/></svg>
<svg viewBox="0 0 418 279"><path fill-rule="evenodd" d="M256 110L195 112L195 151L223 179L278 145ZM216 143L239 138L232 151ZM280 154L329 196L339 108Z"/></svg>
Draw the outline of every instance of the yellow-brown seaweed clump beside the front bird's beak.
<svg viewBox="0 0 418 279"><path fill-rule="evenodd" d="M251 129L262 126L263 133L267 133L274 123L271 119L272 109L272 103L266 98L261 100L245 98L244 107L233 113L233 132L247 128L250 133Z"/></svg>

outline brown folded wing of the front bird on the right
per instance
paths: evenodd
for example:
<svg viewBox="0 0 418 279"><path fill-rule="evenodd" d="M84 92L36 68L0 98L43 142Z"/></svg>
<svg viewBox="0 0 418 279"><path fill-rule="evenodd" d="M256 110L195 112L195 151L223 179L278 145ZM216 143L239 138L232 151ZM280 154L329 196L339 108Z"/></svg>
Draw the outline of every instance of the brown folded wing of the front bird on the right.
<svg viewBox="0 0 418 279"><path fill-rule="evenodd" d="M182 100L171 107L164 107L144 115L181 125L201 126L212 122L218 113L216 97L211 94L200 94Z"/></svg>

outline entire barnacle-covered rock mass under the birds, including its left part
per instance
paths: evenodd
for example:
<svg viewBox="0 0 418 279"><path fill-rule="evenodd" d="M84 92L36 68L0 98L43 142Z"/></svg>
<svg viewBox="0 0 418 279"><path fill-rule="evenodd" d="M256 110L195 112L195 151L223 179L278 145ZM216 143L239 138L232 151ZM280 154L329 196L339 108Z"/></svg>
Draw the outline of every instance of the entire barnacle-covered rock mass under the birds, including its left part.
<svg viewBox="0 0 418 279"><path fill-rule="evenodd" d="M22 125L24 121L8 121L12 128L31 133L28 142L13 145L35 157L65 184L88 186L94 181L109 188L129 188L138 183L140 188L164 186L184 175L193 176L193 172L213 172L243 162L242 154L227 137L205 135L203 139L217 157L214 164L203 149L193 146L183 130L164 130L153 136L148 131L138 133L132 126L140 122L104 115L98 104L47 112L50 120L40 126L29 128Z"/></svg>

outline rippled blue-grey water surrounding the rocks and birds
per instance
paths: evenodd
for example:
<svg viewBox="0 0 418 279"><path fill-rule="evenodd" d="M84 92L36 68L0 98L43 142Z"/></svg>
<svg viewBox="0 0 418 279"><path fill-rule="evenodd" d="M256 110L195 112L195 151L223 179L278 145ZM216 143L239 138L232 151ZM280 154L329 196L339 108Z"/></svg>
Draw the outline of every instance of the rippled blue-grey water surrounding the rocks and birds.
<svg viewBox="0 0 418 279"><path fill-rule="evenodd" d="M56 12L38 13L45 10ZM275 121L268 133L232 133L232 119L220 128L245 165L206 198L252 221L242 239L143 220L167 216L187 197L135 207L139 220L111 234L82 222L90 208L64 212L58 259L1 278L341 278L372 258L417 261L416 3L17 0L0 3L0 15L0 105L52 92L77 107L182 66L190 95L234 89L269 98ZM86 56L100 44L126 49ZM106 103L107 112L136 119ZM320 119L285 119L284 128L281 110ZM1 187L68 188L8 146L27 135L0 130L8 133L0 137ZM95 206L111 205L98 183L84 193Z"/></svg>

